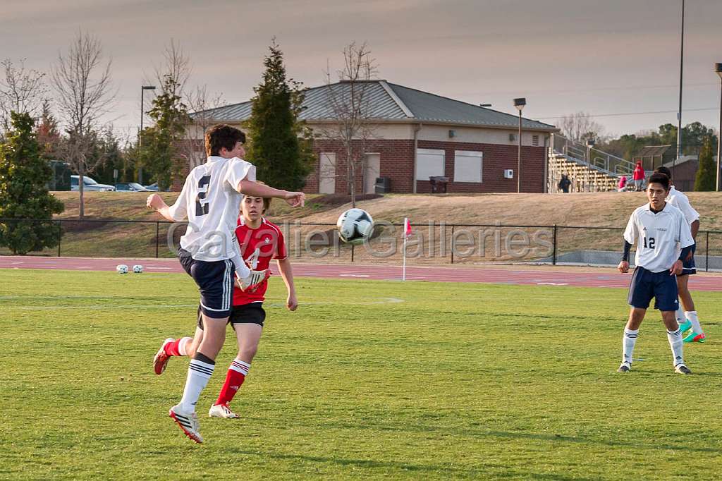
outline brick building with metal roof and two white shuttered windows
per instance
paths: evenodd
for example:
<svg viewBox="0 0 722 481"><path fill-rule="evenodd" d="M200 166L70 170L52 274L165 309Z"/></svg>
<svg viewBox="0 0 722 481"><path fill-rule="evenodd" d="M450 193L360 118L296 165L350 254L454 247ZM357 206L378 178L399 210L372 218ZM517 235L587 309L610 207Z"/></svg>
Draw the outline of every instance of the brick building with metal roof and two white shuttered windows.
<svg viewBox="0 0 722 481"><path fill-rule="evenodd" d="M365 142L358 192L372 193L377 178L388 178L393 193L428 192L431 176L448 178L448 192L516 192L518 116L385 80L364 83L373 138ZM323 134L334 118L330 95L350 95L345 92L349 88L348 82L339 82L305 92L300 117L314 132L318 162L304 189L308 193L348 192L342 144ZM240 126L251 115L251 102L203 115ZM556 131L547 123L522 119L522 191L544 191L545 147Z"/></svg>

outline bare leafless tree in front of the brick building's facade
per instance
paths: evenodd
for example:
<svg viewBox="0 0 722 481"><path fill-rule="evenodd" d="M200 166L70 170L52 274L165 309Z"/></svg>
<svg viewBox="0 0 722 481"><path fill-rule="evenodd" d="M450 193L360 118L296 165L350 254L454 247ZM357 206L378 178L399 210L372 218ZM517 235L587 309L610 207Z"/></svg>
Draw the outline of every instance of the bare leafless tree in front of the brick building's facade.
<svg viewBox="0 0 722 481"><path fill-rule="evenodd" d="M339 82L331 82L331 73L326 69L330 122L321 129L321 136L342 145L351 204L356 207L357 173L363 173L367 149L376 138L370 94L377 70L366 43L349 43L343 54L344 66L336 71Z"/></svg>

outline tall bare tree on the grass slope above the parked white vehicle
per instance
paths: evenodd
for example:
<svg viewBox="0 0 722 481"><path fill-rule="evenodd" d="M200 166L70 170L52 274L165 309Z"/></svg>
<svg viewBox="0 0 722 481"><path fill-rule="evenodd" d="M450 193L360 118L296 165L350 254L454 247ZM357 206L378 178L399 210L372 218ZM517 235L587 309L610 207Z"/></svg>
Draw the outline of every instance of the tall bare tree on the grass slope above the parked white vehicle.
<svg viewBox="0 0 722 481"><path fill-rule="evenodd" d="M94 151L100 118L110 111L115 98L110 92L110 63L103 61L100 41L79 31L67 53L58 53L53 66L58 111L67 133L61 153L79 176L79 217L84 216L83 176L103 162L103 156Z"/></svg>

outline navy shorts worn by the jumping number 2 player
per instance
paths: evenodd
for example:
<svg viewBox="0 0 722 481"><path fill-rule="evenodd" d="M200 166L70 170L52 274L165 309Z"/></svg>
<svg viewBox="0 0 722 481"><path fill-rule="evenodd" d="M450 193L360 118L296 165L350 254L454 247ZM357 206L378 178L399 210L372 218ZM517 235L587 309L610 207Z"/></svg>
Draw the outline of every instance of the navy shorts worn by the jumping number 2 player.
<svg viewBox="0 0 722 481"><path fill-rule="evenodd" d="M230 316L235 282L233 261L198 261L185 249L178 251L178 260L198 285L203 313L213 319Z"/></svg>

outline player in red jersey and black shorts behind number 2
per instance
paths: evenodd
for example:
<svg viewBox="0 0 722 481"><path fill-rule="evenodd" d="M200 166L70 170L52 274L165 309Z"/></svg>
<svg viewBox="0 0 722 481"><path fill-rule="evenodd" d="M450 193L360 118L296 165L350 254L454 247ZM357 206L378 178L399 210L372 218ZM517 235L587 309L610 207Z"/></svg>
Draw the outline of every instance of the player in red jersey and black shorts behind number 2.
<svg viewBox="0 0 722 481"><path fill-rule="evenodd" d="M281 277L288 291L286 307L289 311L295 311L298 300L283 234L277 225L263 217L270 202L271 199L245 196L240 204L241 215L235 234L240 244L240 255L251 269L268 269L271 258L277 260ZM238 355L228 368L218 399L209 410L210 417L239 417L230 410L229 403L245 381L245 376L251 368L251 361L258 350L258 342L261 340L261 332L266 319L263 303L267 287L268 281L264 281L254 290L243 291L238 285L233 290L233 307L228 322L238 339ZM196 327L196 335L193 338L166 339L153 360L155 373L161 374L165 371L168 360L173 356L192 357L202 340L202 322L199 322Z"/></svg>

